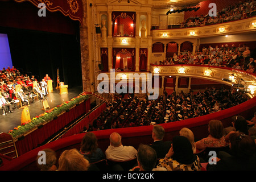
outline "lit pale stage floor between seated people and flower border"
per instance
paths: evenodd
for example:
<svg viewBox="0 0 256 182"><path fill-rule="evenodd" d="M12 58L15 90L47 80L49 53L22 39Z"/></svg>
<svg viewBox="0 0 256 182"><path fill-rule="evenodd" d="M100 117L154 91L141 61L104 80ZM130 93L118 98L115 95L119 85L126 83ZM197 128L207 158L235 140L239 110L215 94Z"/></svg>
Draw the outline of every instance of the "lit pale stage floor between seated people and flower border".
<svg viewBox="0 0 256 182"><path fill-rule="evenodd" d="M70 101L72 98L77 97L80 93L82 93L82 87L68 88L68 94L60 95L59 89L53 89L53 92L48 93L47 101L49 107L55 107L57 105L62 104L63 102ZM13 105L14 106L14 105ZM32 103L32 99L30 99L30 118L32 119L36 115L42 114L45 111L43 109L43 105L41 101L35 100ZM46 109L48 110L48 109ZM13 130L14 127L17 127L21 124L21 116L22 109L14 109L13 113L7 113L7 115L0 115L0 133L5 132L8 133L10 130Z"/></svg>

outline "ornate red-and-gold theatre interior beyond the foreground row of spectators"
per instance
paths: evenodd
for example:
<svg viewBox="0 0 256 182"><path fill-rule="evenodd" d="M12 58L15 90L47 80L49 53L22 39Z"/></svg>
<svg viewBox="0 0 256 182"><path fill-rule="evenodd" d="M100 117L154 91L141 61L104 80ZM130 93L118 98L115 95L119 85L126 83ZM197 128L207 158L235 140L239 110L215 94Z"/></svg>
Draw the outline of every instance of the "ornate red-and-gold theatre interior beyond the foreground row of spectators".
<svg viewBox="0 0 256 182"><path fill-rule="evenodd" d="M0 170L40 171L45 148L58 166L89 132L138 149L155 125L196 142L243 117L256 143L255 64L254 0L0 0Z"/></svg>

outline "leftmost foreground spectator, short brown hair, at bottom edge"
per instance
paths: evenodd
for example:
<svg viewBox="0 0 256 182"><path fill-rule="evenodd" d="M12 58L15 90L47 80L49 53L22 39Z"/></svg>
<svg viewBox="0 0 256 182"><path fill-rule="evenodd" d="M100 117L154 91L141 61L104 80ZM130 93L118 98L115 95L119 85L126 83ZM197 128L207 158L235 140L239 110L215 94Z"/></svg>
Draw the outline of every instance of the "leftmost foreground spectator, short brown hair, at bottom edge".
<svg viewBox="0 0 256 182"><path fill-rule="evenodd" d="M38 155L36 158L36 164L40 171L56 171L56 162L57 162L57 157L56 157L56 152L53 151L51 148L46 148L43 150L45 152L45 164L43 161L40 161L41 155ZM39 163L40 162L40 163Z"/></svg>

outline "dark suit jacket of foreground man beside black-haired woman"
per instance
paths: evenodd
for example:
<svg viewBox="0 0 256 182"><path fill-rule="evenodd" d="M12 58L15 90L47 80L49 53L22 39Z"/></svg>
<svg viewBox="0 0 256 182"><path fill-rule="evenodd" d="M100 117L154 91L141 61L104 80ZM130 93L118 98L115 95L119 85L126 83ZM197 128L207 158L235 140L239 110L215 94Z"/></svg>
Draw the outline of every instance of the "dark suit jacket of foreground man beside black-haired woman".
<svg viewBox="0 0 256 182"><path fill-rule="evenodd" d="M154 148L158 158L164 158L171 148L171 143L172 143L171 141L164 142L163 140L159 140L150 144L150 146Z"/></svg>

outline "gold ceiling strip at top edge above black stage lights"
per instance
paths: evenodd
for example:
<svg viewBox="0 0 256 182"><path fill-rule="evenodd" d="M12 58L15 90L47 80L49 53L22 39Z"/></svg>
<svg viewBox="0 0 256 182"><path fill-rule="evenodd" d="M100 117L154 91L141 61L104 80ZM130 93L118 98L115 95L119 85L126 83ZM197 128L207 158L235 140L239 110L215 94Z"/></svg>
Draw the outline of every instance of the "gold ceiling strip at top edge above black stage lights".
<svg viewBox="0 0 256 182"><path fill-rule="evenodd" d="M167 9L171 7L191 7L196 6L204 0L152 0L154 9Z"/></svg>

